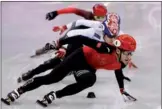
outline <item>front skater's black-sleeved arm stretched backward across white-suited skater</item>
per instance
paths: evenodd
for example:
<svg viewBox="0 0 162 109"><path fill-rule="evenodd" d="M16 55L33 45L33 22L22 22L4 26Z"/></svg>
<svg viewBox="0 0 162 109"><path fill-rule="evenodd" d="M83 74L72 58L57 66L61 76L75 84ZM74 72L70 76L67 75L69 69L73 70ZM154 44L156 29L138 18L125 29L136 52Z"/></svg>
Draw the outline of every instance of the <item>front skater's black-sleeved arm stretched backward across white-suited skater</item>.
<svg viewBox="0 0 162 109"><path fill-rule="evenodd" d="M87 45L93 49L95 49L98 52L101 53L112 53L112 51L115 49L114 46L111 46L105 42L100 42L94 39L90 39L84 36L75 36L75 37L69 37L69 38L60 38L59 44L70 44L73 42L80 42L84 45Z"/></svg>

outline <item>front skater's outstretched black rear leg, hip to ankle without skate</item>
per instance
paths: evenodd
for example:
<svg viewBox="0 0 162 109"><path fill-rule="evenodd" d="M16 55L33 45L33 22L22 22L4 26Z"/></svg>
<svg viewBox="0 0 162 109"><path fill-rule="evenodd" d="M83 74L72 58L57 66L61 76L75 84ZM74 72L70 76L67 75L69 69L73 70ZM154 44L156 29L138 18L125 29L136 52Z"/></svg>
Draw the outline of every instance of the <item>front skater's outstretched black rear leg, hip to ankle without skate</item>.
<svg viewBox="0 0 162 109"><path fill-rule="evenodd" d="M78 63L79 62L79 63ZM33 80L27 82L23 86L17 89L19 94L27 91L34 90L41 85L49 85L52 83L59 82L72 70L87 69L90 66L87 64L82 49L76 50L70 56L65 58L59 65L57 65L51 73L33 78ZM11 93L10 95L12 95Z"/></svg>

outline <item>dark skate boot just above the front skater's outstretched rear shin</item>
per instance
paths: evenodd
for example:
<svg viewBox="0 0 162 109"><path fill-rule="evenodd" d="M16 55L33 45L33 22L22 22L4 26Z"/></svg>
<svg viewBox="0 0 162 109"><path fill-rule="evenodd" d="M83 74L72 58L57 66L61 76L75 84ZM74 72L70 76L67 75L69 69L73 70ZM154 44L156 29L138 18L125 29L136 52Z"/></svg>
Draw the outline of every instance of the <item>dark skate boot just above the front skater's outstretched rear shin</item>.
<svg viewBox="0 0 162 109"><path fill-rule="evenodd" d="M27 80L31 79L32 77L33 77L32 71L28 71L28 72L26 72L26 73L23 73L23 74L21 75L21 77L19 77L19 78L17 79L17 82L18 82L18 83L21 83L21 82L23 82L23 81L27 81Z"/></svg>

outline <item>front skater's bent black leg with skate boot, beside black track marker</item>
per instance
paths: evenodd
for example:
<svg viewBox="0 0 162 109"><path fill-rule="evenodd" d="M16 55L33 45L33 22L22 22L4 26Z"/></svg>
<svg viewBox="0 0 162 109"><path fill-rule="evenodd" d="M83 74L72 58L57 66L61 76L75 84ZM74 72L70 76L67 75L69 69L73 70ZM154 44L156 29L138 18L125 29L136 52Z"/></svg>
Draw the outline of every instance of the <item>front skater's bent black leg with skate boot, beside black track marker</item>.
<svg viewBox="0 0 162 109"><path fill-rule="evenodd" d="M58 90L56 92L51 91L46 94L43 98L43 103L50 104L56 98L77 94L82 90L91 87L96 82L96 75L95 73L90 72L90 70L80 70L76 76L76 83L70 84L62 90Z"/></svg>

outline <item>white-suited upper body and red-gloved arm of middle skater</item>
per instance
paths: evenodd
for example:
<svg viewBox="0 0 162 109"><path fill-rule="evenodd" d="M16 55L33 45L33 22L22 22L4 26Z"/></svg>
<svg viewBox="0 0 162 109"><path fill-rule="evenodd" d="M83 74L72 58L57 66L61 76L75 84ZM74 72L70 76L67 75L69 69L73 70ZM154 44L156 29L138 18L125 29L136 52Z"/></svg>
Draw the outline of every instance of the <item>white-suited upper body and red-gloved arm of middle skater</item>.
<svg viewBox="0 0 162 109"><path fill-rule="evenodd" d="M83 21L83 22L82 22ZM67 25L63 26L54 26L53 31L54 32L60 32L60 35L65 31L69 30L66 33L66 36L68 37L73 37L76 35L87 35L89 37L92 37L96 31L102 32L103 31L103 26L100 22L98 21L91 21L91 23L88 24L88 22L84 22L88 20L78 20L76 22L69 23Z"/></svg>

